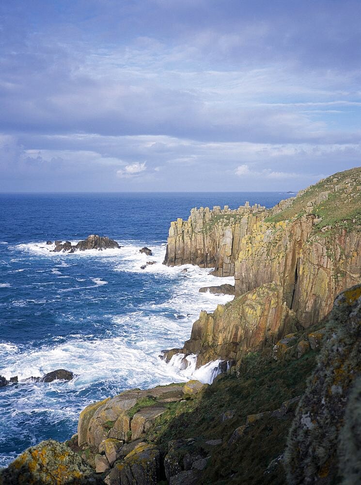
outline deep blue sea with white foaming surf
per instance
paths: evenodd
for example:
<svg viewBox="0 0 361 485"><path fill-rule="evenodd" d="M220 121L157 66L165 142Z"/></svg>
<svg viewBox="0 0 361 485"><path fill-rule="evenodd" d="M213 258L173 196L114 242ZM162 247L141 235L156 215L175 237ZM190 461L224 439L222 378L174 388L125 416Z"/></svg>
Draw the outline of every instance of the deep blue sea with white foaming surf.
<svg viewBox="0 0 361 485"><path fill-rule="evenodd" d="M91 402L127 388L187 380L162 349L181 345L202 309L229 296L198 293L233 282L209 270L162 264L170 222L192 207L246 200L271 207L284 193L0 194L0 374L65 368L69 382L0 388L0 466L25 448L76 432ZM106 235L121 249L50 252L46 241ZM153 256L139 252L148 246ZM147 260L156 261L145 270ZM222 280L222 281L220 281ZM209 375L198 373L206 380Z"/></svg>

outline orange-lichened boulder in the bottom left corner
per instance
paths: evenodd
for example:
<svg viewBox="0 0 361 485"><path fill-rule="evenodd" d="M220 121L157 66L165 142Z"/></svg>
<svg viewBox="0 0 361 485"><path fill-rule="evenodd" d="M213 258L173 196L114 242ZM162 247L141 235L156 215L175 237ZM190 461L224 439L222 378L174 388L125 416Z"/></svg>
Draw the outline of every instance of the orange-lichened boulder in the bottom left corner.
<svg viewBox="0 0 361 485"><path fill-rule="evenodd" d="M0 485L85 485L99 483L94 470L64 443L42 441L0 470Z"/></svg>

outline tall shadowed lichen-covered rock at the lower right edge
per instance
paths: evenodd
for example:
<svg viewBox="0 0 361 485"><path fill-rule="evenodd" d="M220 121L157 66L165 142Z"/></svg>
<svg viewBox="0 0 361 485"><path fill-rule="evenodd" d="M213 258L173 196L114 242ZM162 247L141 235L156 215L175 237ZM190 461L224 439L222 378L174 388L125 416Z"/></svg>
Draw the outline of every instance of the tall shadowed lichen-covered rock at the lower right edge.
<svg viewBox="0 0 361 485"><path fill-rule="evenodd" d="M344 459L340 461L338 442L351 414L350 390L361 374L361 285L336 298L327 328L329 337L288 438L285 469L292 485L339 483Z"/></svg>

